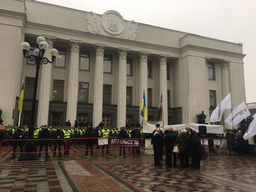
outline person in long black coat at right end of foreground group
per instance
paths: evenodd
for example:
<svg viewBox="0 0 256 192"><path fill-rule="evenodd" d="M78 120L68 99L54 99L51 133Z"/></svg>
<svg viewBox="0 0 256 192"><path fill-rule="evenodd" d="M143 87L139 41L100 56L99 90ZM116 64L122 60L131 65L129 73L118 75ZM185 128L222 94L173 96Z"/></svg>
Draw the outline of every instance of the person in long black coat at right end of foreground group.
<svg viewBox="0 0 256 192"><path fill-rule="evenodd" d="M199 140L196 132L193 131L192 129L188 130L188 135L191 139L191 145L190 145L190 149L189 149L189 152L191 153L191 157L192 157L191 165L194 168L200 169L200 155L202 154L201 141Z"/></svg>

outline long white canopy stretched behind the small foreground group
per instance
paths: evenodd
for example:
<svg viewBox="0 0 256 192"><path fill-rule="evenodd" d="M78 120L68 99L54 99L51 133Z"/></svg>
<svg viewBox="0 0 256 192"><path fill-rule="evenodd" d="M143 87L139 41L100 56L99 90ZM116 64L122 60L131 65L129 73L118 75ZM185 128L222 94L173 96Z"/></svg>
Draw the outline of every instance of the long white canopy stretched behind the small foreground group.
<svg viewBox="0 0 256 192"><path fill-rule="evenodd" d="M147 121L143 122L143 133L152 133L156 129L156 124L160 124L160 129L165 131L168 130L169 127L172 127L174 131L182 130L183 128L189 127L192 130L196 131L196 133L199 132L199 126L202 124L196 124L196 123L188 123L188 124L178 124L178 125L165 125L163 127L162 121L155 121L150 122ZM224 127L223 125L205 125L207 133L215 133L215 134L223 134L224 133Z"/></svg>

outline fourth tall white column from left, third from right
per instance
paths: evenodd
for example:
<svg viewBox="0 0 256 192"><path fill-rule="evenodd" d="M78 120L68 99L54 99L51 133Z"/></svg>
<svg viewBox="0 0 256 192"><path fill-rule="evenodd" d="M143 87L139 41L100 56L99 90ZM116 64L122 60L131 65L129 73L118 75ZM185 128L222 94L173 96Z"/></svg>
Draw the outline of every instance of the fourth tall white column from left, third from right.
<svg viewBox="0 0 256 192"><path fill-rule="evenodd" d="M117 127L126 125L126 56L127 49L119 49Z"/></svg>

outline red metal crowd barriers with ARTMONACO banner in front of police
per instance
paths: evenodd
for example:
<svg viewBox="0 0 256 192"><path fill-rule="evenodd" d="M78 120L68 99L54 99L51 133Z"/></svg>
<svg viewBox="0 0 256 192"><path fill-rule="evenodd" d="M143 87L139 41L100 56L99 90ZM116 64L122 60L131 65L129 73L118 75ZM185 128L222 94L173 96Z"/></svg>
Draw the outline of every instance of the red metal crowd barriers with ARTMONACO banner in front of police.
<svg viewBox="0 0 256 192"><path fill-rule="evenodd" d="M219 138L199 138L205 147L205 150L215 150L225 146L225 139ZM133 153L143 154L145 151L153 150L150 143L151 138L119 138L119 137L93 137L93 138L68 138L68 139L28 139L28 140L2 140L0 143L0 154L56 154L56 153L73 153L73 157L76 158L78 151L88 154L93 151L118 151L118 150L133 150ZM209 147L209 140L218 140L219 143L215 144L215 147ZM214 141L215 142L215 141ZM100 144L100 145L99 145ZM221 147L217 147L217 146ZM5 149L5 147L8 150ZM104 147L103 147L104 146ZM19 152L17 151L19 147ZM33 147L34 150L27 152L24 149L26 147ZM45 150L50 148L50 150ZM44 149L44 151L42 151ZM150 152L152 154L152 151Z"/></svg>

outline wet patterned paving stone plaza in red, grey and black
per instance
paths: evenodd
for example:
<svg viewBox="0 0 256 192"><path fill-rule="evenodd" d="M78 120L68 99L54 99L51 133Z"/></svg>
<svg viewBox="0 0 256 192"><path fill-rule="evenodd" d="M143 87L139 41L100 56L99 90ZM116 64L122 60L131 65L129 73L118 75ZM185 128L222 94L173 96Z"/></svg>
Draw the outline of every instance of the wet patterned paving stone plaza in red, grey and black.
<svg viewBox="0 0 256 192"><path fill-rule="evenodd" d="M110 154L18 161L1 155L0 191L256 191L255 157L210 155L201 170L157 167L152 155Z"/></svg>

